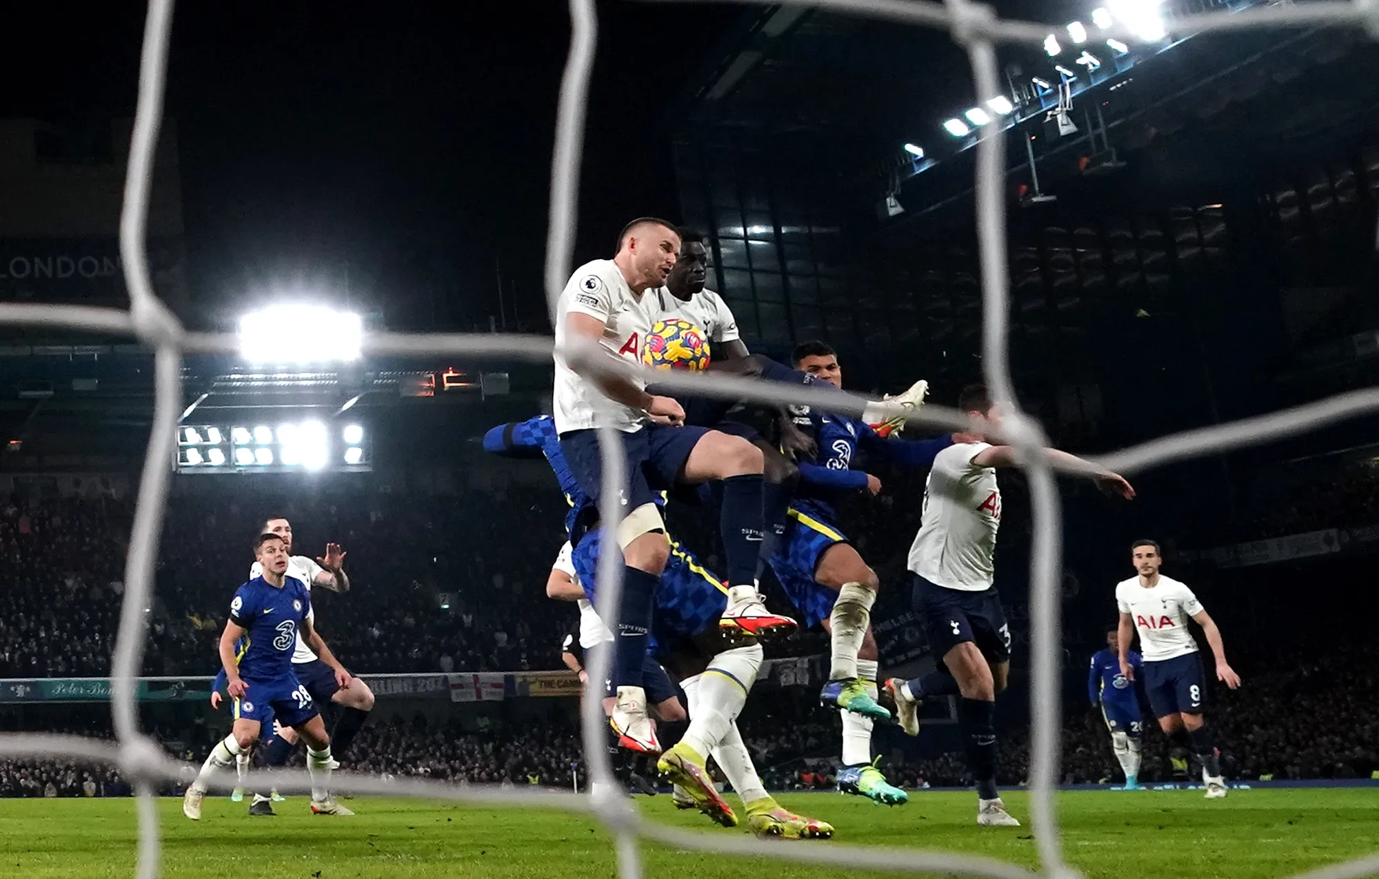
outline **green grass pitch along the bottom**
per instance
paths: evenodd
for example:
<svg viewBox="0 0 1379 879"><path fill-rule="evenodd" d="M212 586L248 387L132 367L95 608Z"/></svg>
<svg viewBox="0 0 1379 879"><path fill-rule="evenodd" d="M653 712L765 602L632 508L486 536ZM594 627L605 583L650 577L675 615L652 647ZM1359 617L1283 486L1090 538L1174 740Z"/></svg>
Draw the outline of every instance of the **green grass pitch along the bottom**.
<svg viewBox="0 0 1379 879"><path fill-rule="evenodd" d="M1059 795L1067 857L1091 878L1288 876L1379 850L1379 789L1077 791ZM954 849L1036 865L1027 827L979 828L971 794L918 792L885 809L833 794L781 800L832 821L837 842ZM638 798L644 814L705 834L736 834L669 796ZM1026 798L1007 794L1027 816ZM736 805L734 798L734 805ZM608 836L592 821L558 811L519 811L405 799L350 800L353 818L314 817L305 798L279 803L277 818L250 818L245 805L207 798L204 817L182 817L181 800L160 800L163 876L240 879L365 879L485 876L495 879L612 876ZM778 843L827 846L829 842ZM648 876L685 879L808 878L837 871L644 846ZM0 876L84 879L130 876L134 806L127 799L0 800Z"/></svg>

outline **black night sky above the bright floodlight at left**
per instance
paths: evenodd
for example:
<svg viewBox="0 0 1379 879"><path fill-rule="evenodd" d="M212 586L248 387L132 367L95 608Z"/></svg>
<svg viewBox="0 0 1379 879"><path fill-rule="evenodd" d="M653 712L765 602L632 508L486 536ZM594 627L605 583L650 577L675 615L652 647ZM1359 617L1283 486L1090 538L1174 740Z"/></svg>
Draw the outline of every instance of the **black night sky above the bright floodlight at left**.
<svg viewBox="0 0 1379 879"><path fill-rule="evenodd" d="M632 216L676 218L666 116L742 8L598 12L576 259L605 255ZM0 116L132 112L141 4L6 19ZM517 314L539 322L568 34L558 0L179 4L167 113L199 295L223 307L283 278L338 288L348 256L357 302L381 300L393 325L487 321L501 263ZM436 311L427 282L454 291Z"/></svg>

